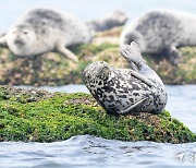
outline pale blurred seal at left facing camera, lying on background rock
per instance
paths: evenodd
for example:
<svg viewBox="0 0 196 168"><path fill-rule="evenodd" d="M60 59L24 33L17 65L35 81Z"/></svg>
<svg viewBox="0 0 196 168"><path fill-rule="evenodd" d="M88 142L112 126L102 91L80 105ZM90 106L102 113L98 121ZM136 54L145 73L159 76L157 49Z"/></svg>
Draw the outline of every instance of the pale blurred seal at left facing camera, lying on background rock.
<svg viewBox="0 0 196 168"><path fill-rule="evenodd" d="M16 21L0 38L0 44L7 44L21 57L56 50L76 61L77 57L66 47L89 43L91 38L90 28L76 16L51 9L34 9Z"/></svg>

